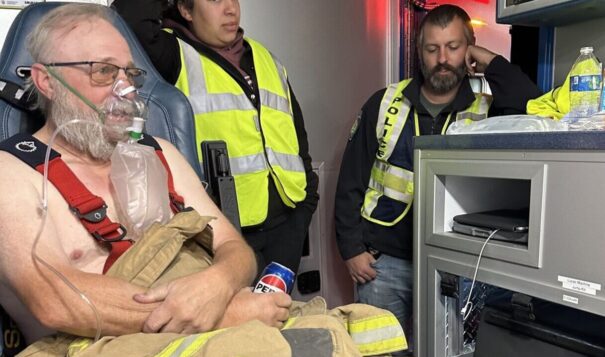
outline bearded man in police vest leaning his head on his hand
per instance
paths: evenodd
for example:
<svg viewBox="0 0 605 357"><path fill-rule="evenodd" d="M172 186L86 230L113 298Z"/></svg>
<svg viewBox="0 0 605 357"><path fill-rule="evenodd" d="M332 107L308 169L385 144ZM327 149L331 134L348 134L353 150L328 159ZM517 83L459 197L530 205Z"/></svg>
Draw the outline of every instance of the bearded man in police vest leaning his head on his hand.
<svg viewBox="0 0 605 357"><path fill-rule="evenodd" d="M335 202L340 253L359 301L392 311L410 347L413 137L444 134L456 120L524 113L527 100L539 95L520 69L474 44L463 9L431 10L417 36L422 75L369 98L342 158ZM484 73L490 89L475 87L467 72Z"/></svg>

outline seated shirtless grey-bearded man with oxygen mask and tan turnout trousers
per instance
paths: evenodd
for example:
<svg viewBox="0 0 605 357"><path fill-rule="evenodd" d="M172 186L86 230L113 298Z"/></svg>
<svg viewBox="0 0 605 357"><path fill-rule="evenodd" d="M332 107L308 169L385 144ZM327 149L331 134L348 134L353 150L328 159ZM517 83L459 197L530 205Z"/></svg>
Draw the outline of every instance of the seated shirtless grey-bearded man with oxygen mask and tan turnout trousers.
<svg viewBox="0 0 605 357"><path fill-rule="evenodd" d="M107 11L67 4L40 21L28 41L30 89L46 122L0 144L0 305L27 344L38 340L25 353L156 355L192 342L202 355L405 348L386 311L327 311L325 301L289 310L287 294L251 291L252 250L177 149L142 135L145 71ZM381 334L366 347L345 327ZM288 344L304 338L316 342Z"/></svg>

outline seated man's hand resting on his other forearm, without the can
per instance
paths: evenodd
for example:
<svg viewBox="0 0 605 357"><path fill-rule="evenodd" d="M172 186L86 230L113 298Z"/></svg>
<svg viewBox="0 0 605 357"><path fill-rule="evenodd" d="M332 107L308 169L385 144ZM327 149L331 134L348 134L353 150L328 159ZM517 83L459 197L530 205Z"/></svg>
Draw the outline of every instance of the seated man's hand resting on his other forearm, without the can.
<svg viewBox="0 0 605 357"><path fill-rule="evenodd" d="M145 321L143 332L198 333L216 327L234 293L221 271L209 267L133 298L140 303L161 302Z"/></svg>

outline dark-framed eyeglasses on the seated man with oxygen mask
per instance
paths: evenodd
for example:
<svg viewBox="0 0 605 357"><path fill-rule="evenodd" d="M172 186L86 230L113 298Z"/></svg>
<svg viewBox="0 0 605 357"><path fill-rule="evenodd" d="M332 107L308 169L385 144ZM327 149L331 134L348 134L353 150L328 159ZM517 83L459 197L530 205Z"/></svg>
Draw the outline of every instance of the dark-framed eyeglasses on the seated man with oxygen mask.
<svg viewBox="0 0 605 357"><path fill-rule="evenodd" d="M115 82L120 70L123 70L126 77L135 86L140 88L145 82L147 72L144 69L136 67L120 67L113 63L97 62L97 61L80 61L80 62L54 62L47 63L45 66L51 67L68 67L88 65L90 80L99 85L110 85Z"/></svg>

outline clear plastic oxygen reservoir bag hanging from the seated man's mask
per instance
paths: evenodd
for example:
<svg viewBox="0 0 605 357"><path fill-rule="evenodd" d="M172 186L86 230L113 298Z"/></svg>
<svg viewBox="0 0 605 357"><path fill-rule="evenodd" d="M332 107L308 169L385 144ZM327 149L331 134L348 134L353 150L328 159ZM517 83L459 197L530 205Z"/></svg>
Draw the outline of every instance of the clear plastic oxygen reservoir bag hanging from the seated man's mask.
<svg viewBox="0 0 605 357"><path fill-rule="evenodd" d="M128 238L137 239L154 222L170 219L168 178L164 165L151 146L141 145L147 108L136 93L130 100L133 108L129 137L120 141L111 156L110 178L116 192L121 217L125 219Z"/></svg>

